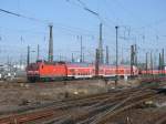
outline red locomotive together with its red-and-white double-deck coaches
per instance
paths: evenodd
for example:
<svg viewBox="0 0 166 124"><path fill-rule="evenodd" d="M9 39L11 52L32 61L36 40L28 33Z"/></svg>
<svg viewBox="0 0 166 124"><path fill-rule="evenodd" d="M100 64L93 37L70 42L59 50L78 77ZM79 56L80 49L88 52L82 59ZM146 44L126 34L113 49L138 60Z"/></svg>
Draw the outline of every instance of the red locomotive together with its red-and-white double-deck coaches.
<svg viewBox="0 0 166 124"><path fill-rule="evenodd" d="M138 75L138 70L133 66L134 75ZM100 65L98 76L114 78L116 66ZM129 65L118 65L117 74L120 76L129 76ZM95 65L85 63L64 63L64 62L37 62L31 63L27 68L27 76L31 82L40 80L58 80L58 79L91 79L95 76Z"/></svg>

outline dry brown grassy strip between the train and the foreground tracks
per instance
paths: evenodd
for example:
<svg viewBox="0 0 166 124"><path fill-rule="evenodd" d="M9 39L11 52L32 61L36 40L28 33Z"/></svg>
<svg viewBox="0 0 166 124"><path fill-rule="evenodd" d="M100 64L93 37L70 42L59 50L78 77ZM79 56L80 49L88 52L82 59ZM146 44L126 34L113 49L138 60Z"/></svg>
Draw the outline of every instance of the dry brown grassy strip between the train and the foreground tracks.
<svg viewBox="0 0 166 124"><path fill-rule="evenodd" d="M121 82L118 89L136 86L136 83ZM105 93L114 90L114 82L105 84L102 80L48 82L48 83L0 83L0 110L8 111L25 105L49 103L64 100L65 97L79 97L96 93Z"/></svg>

